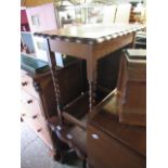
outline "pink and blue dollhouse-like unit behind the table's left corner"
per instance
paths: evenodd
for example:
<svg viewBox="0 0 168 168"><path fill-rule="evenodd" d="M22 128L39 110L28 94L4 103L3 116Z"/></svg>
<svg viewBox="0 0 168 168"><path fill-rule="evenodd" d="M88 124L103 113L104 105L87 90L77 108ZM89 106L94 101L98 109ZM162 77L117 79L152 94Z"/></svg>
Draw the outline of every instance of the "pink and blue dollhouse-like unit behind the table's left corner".
<svg viewBox="0 0 168 168"><path fill-rule="evenodd" d="M43 11L46 11L43 13ZM57 28L54 4L46 3L37 7L22 8L21 10L21 39L22 52L33 54L47 61L43 41L34 37L35 31Z"/></svg>

